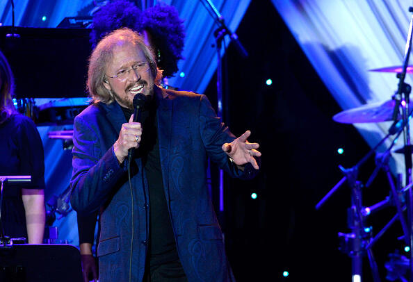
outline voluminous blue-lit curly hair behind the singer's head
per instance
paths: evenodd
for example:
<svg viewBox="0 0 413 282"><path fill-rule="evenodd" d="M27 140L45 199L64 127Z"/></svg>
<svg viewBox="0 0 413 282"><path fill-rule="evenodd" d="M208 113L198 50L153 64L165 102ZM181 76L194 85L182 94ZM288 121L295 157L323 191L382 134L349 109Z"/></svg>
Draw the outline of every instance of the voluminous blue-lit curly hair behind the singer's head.
<svg viewBox="0 0 413 282"><path fill-rule="evenodd" d="M111 31L127 27L141 33L146 30L152 35L154 53L163 76L171 77L178 70L178 61L184 50L184 21L177 9L165 4L157 4L141 11L127 0L115 0L102 6L93 15L90 42L95 48L97 42Z"/></svg>

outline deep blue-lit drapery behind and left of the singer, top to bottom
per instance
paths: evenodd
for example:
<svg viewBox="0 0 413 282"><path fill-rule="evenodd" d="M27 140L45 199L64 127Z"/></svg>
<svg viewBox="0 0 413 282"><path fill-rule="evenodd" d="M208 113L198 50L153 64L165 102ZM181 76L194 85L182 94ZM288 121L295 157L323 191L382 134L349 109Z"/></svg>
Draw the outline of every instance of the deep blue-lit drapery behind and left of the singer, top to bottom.
<svg viewBox="0 0 413 282"><path fill-rule="evenodd" d="M104 0L95 1L102 4ZM134 1L139 8L153 6L159 1ZM234 32L241 22L250 0L211 0L213 5L225 19L225 24ZM56 27L65 17L74 17L79 13L85 15L95 8L92 0L15 0L15 26L29 27ZM169 84L177 88L204 92L216 70L216 48L213 31L218 28L213 17L209 15L200 0L166 0L168 5L175 6L179 16L184 19L186 39L183 56L185 60L179 62L177 76L169 79ZM206 3L206 1L204 1ZM11 1L0 1L0 23L3 26L12 25ZM242 42L243 39L239 38ZM183 76L180 76L180 73ZM42 101L42 103L45 103ZM63 150L63 140L51 140L49 131L61 131L63 126L39 126L44 145L45 180L47 185L46 201L51 195L59 195L69 185L72 174L71 151ZM70 128L69 128L70 129ZM66 217L57 219L59 238L72 240L79 244L76 227L76 214L70 213Z"/></svg>

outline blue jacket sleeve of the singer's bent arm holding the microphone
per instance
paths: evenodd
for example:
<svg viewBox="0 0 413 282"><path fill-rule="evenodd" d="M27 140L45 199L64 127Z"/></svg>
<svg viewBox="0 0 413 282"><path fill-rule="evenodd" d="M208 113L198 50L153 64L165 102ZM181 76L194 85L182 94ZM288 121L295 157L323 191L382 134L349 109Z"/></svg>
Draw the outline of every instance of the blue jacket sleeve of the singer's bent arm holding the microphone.
<svg viewBox="0 0 413 282"><path fill-rule="evenodd" d="M113 146L102 149L102 138L102 133L85 119L74 119L70 202L81 213L91 213L102 206L124 175L124 166L118 163Z"/></svg>

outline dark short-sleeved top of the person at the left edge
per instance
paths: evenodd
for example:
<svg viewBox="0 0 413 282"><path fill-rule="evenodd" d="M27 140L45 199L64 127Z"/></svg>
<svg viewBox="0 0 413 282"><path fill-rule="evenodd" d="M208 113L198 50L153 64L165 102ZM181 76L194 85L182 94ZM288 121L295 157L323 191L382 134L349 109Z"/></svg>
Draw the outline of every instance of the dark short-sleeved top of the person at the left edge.
<svg viewBox="0 0 413 282"><path fill-rule="evenodd" d="M4 235L27 238L22 189L44 189L43 144L34 122L12 115L0 124L0 176L30 175L30 183L5 183L1 220Z"/></svg>

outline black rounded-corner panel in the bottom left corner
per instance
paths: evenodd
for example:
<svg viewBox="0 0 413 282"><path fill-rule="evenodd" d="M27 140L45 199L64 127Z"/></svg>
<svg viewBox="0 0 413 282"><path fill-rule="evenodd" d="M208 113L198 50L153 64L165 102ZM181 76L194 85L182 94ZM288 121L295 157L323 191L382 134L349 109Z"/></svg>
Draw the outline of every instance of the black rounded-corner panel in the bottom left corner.
<svg viewBox="0 0 413 282"><path fill-rule="evenodd" d="M0 247L0 281L82 282L79 250L70 244Z"/></svg>

